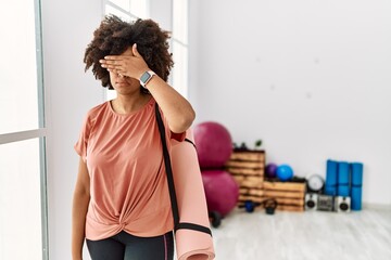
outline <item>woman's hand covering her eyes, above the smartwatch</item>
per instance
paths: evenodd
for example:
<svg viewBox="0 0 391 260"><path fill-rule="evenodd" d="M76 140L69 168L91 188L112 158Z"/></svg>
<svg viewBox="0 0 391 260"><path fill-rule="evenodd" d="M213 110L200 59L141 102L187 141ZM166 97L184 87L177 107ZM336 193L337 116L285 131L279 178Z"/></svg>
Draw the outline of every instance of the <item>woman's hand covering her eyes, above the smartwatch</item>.
<svg viewBox="0 0 391 260"><path fill-rule="evenodd" d="M131 50L128 49L121 55L105 56L104 60L99 62L109 72L136 79L140 79L141 75L149 70L146 61L137 51L136 43L133 44Z"/></svg>

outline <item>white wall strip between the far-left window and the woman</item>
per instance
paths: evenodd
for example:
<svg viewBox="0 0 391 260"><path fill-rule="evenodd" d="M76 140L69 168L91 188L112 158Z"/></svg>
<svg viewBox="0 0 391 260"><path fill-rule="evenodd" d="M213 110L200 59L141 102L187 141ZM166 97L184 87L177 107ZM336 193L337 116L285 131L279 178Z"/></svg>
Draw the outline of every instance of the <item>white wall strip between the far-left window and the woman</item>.
<svg viewBox="0 0 391 260"><path fill-rule="evenodd" d="M85 74L83 63L101 17L101 1L42 0L49 248L50 259L55 260L71 259L72 194L78 167L73 145L87 109L103 100L102 87Z"/></svg>

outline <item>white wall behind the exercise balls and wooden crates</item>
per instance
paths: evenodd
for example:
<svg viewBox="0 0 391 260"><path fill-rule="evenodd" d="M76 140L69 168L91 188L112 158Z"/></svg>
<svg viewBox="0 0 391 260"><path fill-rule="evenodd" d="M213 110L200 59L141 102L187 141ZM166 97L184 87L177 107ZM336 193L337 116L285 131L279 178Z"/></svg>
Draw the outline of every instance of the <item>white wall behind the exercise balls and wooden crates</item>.
<svg viewBox="0 0 391 260"><path fill-rule="evenodd" d="M362 161L364 203L391 205L391 2L190 2L198 122L262 139L298 176Z"/></svg>

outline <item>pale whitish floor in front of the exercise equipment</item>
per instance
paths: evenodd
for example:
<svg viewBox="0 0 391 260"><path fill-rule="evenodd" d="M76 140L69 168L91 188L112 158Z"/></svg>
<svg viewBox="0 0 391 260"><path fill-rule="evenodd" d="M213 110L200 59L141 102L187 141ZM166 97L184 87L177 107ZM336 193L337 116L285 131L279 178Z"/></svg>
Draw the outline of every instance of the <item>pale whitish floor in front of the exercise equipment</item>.
<svg viewBox="0 0 391 260"><path fill-rule="evenodd" d="M391 260L391 207L274 216L235 210L213 237L216 260Z"/></svg>

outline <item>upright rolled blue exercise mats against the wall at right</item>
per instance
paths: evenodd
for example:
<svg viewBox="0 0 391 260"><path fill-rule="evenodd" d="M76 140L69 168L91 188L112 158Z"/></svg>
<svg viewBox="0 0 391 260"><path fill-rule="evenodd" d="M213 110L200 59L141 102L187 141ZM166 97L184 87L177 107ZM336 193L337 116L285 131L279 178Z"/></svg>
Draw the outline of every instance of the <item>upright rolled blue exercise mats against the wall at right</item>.
<svg viewBox="0 0 391 260"><path fill-rule="evenodd" d="M363 164L328 159L325 194L351 197L352 210L362 209Z"/></svg>

